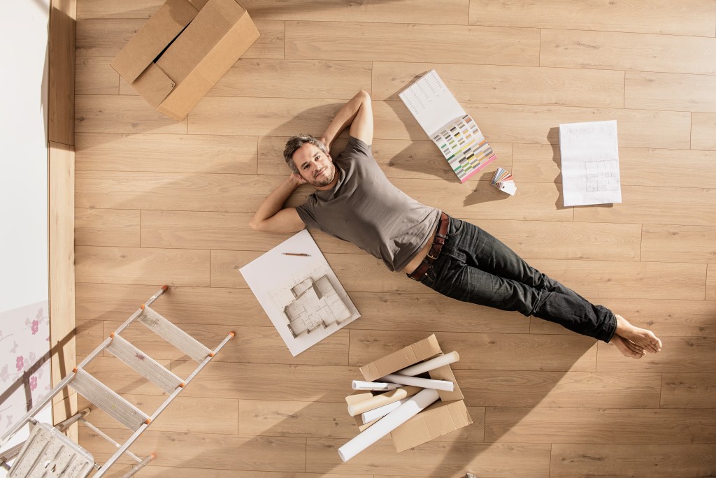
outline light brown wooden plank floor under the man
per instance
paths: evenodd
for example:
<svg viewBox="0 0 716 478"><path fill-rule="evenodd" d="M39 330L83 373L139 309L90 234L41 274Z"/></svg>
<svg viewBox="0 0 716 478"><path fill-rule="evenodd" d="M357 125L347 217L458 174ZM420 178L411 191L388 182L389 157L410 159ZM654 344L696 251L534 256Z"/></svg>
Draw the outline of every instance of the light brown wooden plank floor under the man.
<svg viewBox="0 0 716 478"><path fill-rule="evenodd" d="M200 341L237 335L137 443L158 454L139 476L716 476L713 0L244 0L261 37L182 122L109 66L161 3L77 0L77 351L161 284L157 310ZM430 68L498 153L465 184L397 97ZM288 172L286 137L319 135L361 88L390 180L652 328L662 353L634 361L552 323L451 301L313 233L362 318L291 357L238 272L289 235L248 220ZM624 202L564 208L558 125L601 119L618 122ZM497 166L513 171L516 197L490 187ZM342 397L358 367L430 333L463 358L455 376L474 423L340 462L356 434ZM190 369L142 331L127 336ZM140 408L160 400L108 355L92 373ZM112 451L81 436L100 459Z"/></svg>

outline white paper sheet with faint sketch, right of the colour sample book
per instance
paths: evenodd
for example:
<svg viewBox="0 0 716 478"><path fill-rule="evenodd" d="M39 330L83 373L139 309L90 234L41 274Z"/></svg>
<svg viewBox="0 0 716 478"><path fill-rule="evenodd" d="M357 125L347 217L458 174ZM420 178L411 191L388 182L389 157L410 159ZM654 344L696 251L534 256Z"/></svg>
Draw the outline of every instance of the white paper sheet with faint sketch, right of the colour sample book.
<svg viewBox="0 0 716 478"><path fill-rule="evenodd" d="M616 120L559 125L565 206L621 203Z"/></svg>

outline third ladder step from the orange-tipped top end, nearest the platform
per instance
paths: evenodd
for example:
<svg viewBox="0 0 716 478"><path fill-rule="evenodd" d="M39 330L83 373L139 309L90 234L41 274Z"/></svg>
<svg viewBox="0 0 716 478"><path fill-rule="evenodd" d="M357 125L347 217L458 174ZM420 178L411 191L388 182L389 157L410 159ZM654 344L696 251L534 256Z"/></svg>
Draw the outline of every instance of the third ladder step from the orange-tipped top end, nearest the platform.
<svg viewBox="0 0 716 478"><path fill-rule="evenodd" d="M148 415L117 395L84 369L77 369L69 386L132 431L137 431L149 419Z"/></svg>

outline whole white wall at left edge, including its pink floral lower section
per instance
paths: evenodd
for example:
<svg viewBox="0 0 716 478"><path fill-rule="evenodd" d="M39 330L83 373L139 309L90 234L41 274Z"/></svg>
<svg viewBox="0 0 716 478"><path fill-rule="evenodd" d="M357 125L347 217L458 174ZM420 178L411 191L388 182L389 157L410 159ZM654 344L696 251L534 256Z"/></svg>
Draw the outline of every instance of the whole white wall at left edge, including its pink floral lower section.
<svg viewBox="0 0 716 478"><path fill-rule="evenodd" d="M11 1L0 16L0 367L8 366L0 369L0 394L49 351L48 21L49 0ZM49 368L43 372L33 374L34 399L49 385ZM14 398L0 405L0 435L10 416L24 414L24 399L19 413Z"/></svg>

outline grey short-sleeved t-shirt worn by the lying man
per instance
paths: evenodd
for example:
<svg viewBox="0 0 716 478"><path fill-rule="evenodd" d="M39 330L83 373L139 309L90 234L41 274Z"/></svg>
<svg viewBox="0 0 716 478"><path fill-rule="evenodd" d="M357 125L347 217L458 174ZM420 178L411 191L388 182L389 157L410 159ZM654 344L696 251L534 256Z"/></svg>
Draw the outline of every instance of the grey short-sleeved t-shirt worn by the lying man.
<svg viewBox="0 0 716 478"><path fill-rule="evenodd" d="M354 243L403 270L437 227L440 210L422 205L385 177L371 147L351 137L334 158L338 182L296 210L307 227Z"/></svg>

